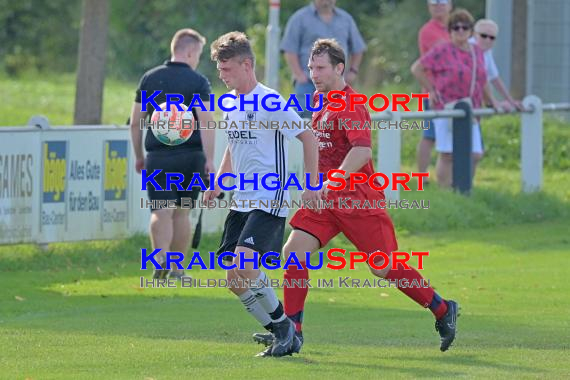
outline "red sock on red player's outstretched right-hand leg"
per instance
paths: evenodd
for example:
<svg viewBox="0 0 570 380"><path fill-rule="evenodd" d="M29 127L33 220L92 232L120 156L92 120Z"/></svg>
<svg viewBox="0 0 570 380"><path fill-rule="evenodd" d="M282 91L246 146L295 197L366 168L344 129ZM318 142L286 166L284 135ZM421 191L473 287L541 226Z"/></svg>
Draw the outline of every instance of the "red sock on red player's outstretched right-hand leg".
<svg viewBox="0 0 570 380"><path fill-rule="evenodd" d="M431 310L436 319L440 319L447 312L447 304L431 286L424 287L427 281L424 280L422 275L414 268L404 269L401 265L398 265L397 269L391 269L386 275L387 280L404 280L408 281L407 287L400 287L400 283L397 284L398 289L402 291L405 295L419 303L422 307L426 307ZM411 286L412 281L416 280L418 285L414 283ZM424 281L422 283L422 281Z"/></svg>

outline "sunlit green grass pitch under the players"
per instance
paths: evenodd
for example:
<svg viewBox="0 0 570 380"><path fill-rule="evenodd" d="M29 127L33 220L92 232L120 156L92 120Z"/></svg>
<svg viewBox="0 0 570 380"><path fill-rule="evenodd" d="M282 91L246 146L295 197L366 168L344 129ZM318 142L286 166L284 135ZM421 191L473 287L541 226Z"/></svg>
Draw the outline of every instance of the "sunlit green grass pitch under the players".
<svg viewBox="0 0 570 380"><path fill-rule="evenodd" d="M423 274L460 302L439 352L431 313L397 289L311 289L302 353L259 359L259 326L226 289L141 289L146 238L0 249L0 378L564 378L567 222L404 235ZM214 249L218 236L204 240ZM349 248L337 238L331 246ZM222 278L222 271L192 272ZM282 272L271 276L281 278ZM339 275L370 278L364 265ZM278 294L281 296L282 291Z"/></svg>

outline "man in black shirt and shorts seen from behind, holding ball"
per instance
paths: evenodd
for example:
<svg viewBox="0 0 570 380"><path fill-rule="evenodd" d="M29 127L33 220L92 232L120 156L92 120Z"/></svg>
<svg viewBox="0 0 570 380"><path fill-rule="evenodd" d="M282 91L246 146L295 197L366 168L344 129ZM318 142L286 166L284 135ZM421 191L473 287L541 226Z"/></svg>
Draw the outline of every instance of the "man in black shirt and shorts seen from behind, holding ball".
<svg viewBox="0 0 570 380"><path fill-rule="evenodd" d="M170 51L172 57L170 61L147 71L141 78L135 97L135 102L131 111L131 141L136 157L136 170L141 173L142 169L152 172L155 169L162 169L161 173L155 177L156 182L165 191L156 191L152 185L147 186L148 197L152 200L175 200L180 206L180 199L183 197L198 198L200 189L195 187L192 191L178 191L176 186L166 189L166 172L179 172L184 174L184 189L188 188L194 173L215 172L214 168L214 141L215 130L195 130L192 136L184 144L168 146L162 144L154 137L152 132L147 131L145 138L146 157L142 149L141 121L150 119L152 112L141 111L141 91L146 90L147 94L154 91L162 91L155 98L156 104L166 101L166 94L181 94L184 96L184 104L188 106L194 94L199 94L200 99L209 109L209 95L211 93L210 82L196 70L200 61L202 49L206 44L206 39L193 29L181 29L172 38ZM150 106L152 107L152 106ZM149 110L151 111L151 110ZM209 125L213 121L209 112L200 109L192 109L194 117L203 125ZM165 261L166 251L177 251L185 253L190 240L190 218L189 209L159 209L152 210L150 218L150 238L152 248L161 248L157 254L157 261ZM164 268L164 265L163 265ZM155 270L154 278L166 278L169 268ZM170 278L180 279L184 276L184 271L173 269Z"/></svg>

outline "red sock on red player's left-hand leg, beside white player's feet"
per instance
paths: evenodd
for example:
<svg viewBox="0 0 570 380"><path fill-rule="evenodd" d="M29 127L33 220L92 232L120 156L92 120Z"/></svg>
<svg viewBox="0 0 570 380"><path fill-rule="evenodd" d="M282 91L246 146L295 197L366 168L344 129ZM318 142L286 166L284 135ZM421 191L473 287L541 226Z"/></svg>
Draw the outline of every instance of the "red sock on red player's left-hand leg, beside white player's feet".
<svg viewBox="0 0 570 380"><path fill-rule="evenodd" d="M303 269L298 269L296 265L289 265L285 271L283 278L291 283L291 280L309 279L309 271L305 266L305 262L301 261ZM302 281L298 281L302 283ZM285 307L285 314L293 322L295 322L295 329L300 332L303 324L303 309L305 308L305 299L309 288L297 286L284 286L283 289L283 306Z"/></svg>

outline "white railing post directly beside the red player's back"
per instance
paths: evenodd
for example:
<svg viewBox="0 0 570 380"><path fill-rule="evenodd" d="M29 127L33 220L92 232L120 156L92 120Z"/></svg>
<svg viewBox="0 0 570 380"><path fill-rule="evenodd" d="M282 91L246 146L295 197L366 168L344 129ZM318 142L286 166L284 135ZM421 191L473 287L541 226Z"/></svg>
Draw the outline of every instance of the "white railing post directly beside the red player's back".
<svg viewBox="0 0 570 380"><path fill-rule="evenodd" d="M389 122L397 123L395 129L380 129L378 130L378 156L376 161L376 170L384 173L392 179L392 173L400 172L401 170L401 156L402 156L402 138L400 131L400 121L402 115L400 112L392 112L392 118ZM389 127L390 124L388 124ZM400 200L400 189L392 190L392 184L384 190L386 199Z"/></svg>

